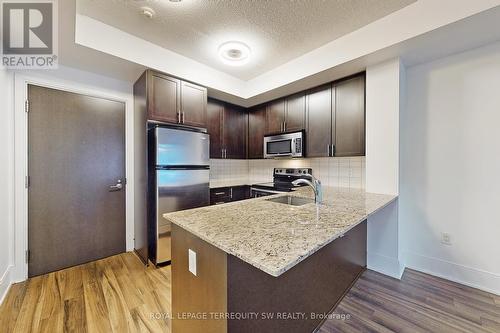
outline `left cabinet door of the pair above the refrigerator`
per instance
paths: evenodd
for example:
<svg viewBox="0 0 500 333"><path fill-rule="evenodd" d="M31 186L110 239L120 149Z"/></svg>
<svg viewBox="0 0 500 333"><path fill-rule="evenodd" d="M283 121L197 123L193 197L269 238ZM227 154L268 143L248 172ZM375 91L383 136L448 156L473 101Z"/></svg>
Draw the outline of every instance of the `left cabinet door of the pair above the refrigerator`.
<svg viewBox="0 0 500 333"><path fill-rule="evenodd" d="M181 81L150 71L149 82L148 119L177 124Z"/></svg>

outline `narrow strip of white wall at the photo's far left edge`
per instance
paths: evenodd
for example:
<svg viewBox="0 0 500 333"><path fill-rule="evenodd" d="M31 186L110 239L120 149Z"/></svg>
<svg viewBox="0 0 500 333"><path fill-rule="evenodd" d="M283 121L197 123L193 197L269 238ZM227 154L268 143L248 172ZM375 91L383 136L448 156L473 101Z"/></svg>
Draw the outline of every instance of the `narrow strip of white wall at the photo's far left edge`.
<svg viewBox="0 0 500 333"><path fill-rule="evenodd" d="M0 69L0 303L11 282L14 221L12 73Z"/></svg>

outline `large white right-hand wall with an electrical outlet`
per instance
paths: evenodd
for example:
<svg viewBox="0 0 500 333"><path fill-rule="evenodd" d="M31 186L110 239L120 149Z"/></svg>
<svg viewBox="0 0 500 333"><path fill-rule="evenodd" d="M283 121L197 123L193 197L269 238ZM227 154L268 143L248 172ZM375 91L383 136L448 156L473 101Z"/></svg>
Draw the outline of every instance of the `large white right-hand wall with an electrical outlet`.
<svg viewBox="0 0 500 333"><path fill-rule="evenodd" d="M500 43L409 68L407 83L407 265L500 294Z"/></svg>

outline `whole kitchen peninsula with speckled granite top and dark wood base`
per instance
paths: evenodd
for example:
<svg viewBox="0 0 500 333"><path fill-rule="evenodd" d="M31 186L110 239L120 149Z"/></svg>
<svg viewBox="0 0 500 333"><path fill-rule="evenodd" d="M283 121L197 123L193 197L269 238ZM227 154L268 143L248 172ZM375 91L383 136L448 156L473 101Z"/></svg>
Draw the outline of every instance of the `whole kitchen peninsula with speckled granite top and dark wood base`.
<svg viewBox="0 0 500 333"><path fill-rule="evenodd" d="M322 204L312 198L301 188L165 214L173 332L310 332L320 325L366 268L367 218L396 197L326 187Z"/></svg>

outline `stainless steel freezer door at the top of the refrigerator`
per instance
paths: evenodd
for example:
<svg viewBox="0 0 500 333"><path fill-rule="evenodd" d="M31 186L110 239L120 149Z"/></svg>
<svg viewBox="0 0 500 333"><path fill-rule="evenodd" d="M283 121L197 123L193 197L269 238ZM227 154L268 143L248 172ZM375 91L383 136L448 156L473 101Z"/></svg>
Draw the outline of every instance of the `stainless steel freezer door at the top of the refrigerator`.
<svg viewBox="0 0 500 333"><path fill-rule="evenodd" d="M156 165L209 165L209 136L173 128L156 128Z"/></svg>

